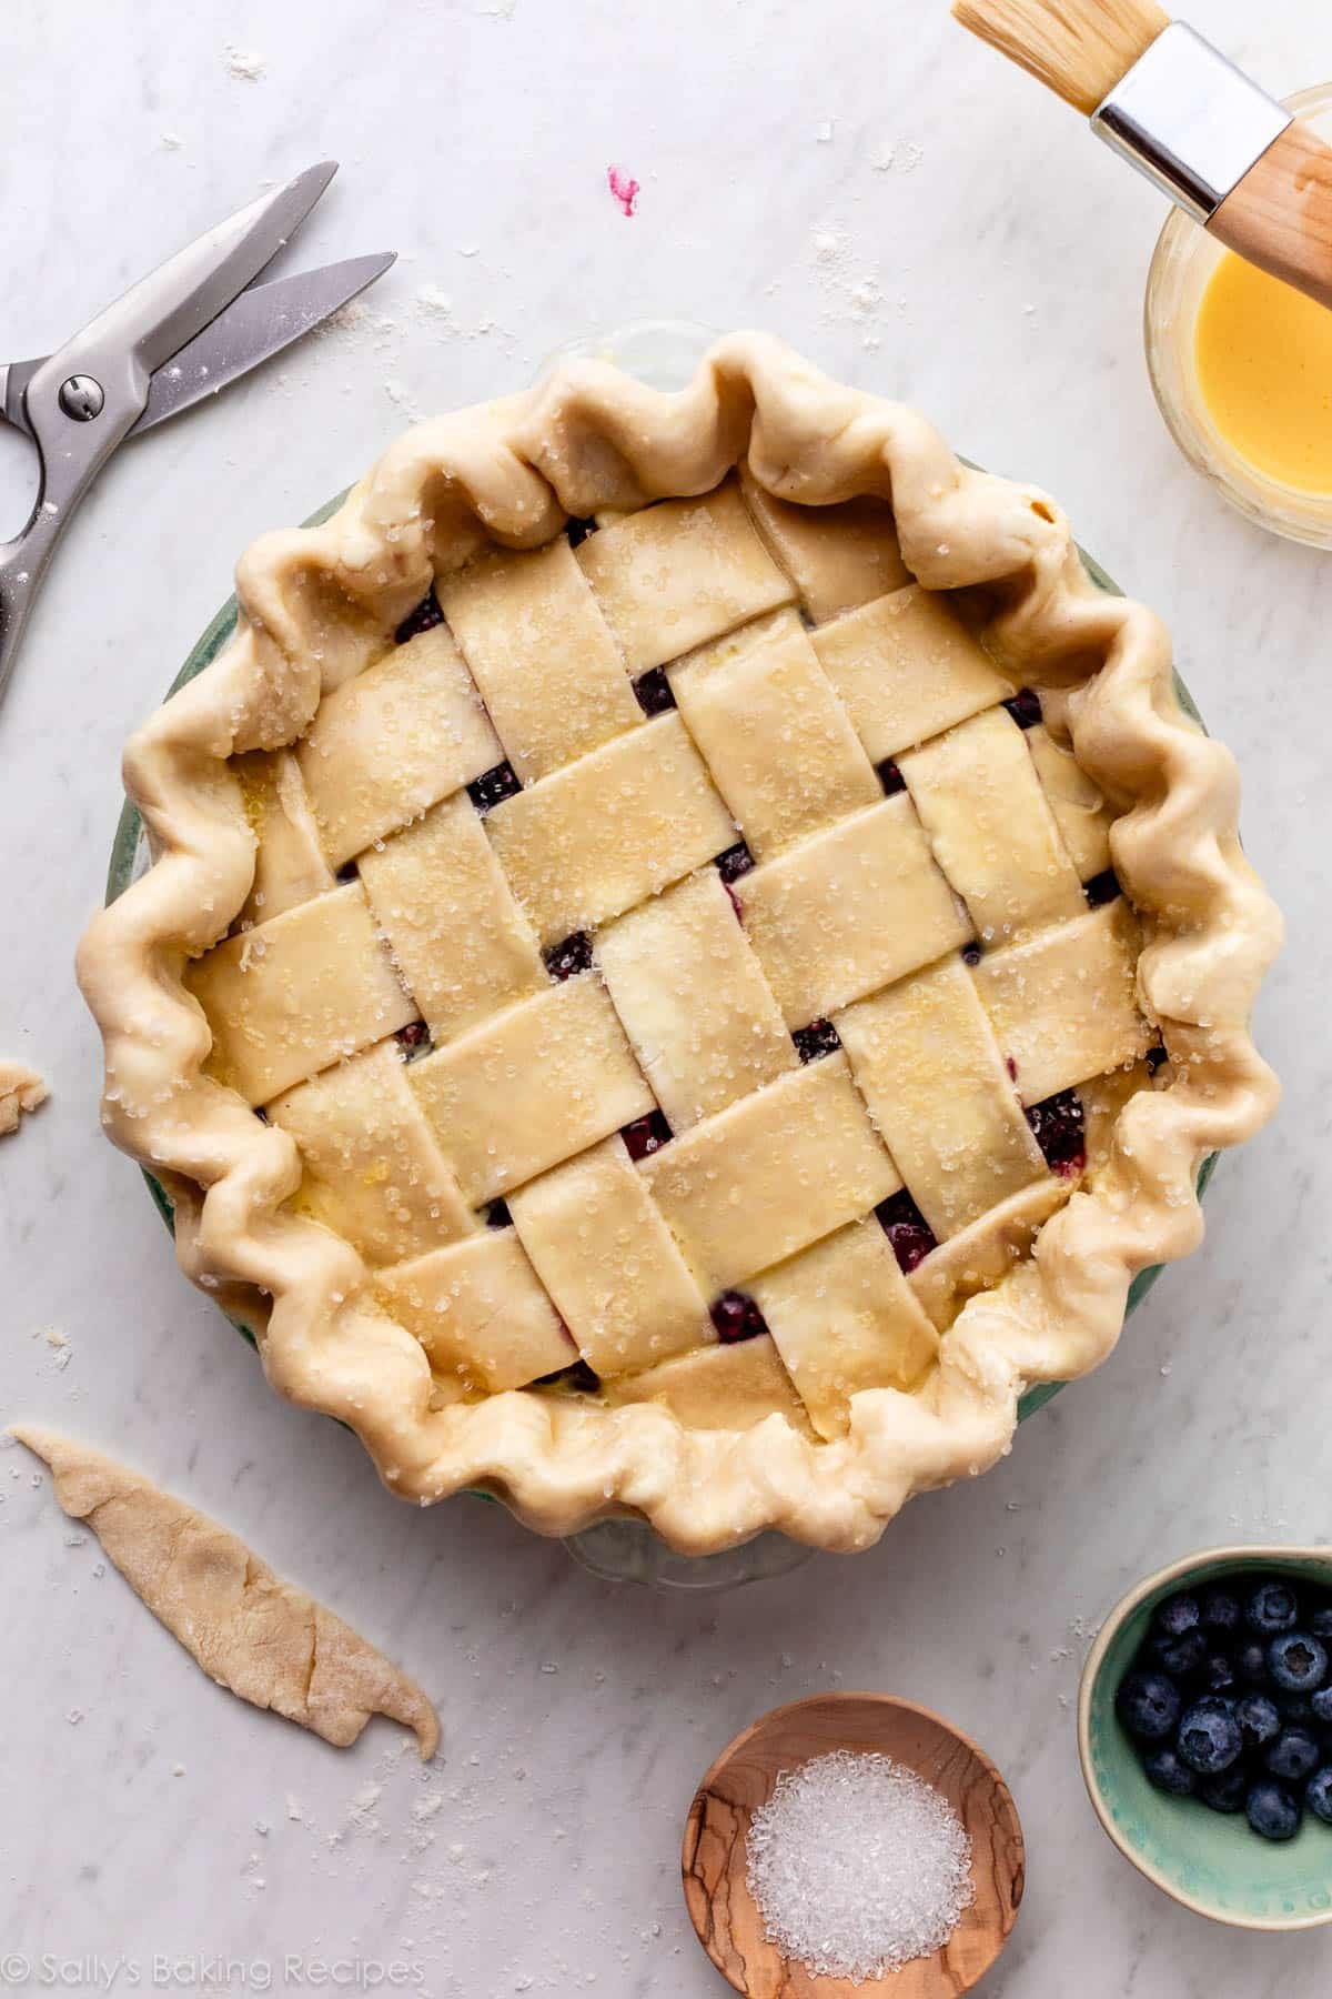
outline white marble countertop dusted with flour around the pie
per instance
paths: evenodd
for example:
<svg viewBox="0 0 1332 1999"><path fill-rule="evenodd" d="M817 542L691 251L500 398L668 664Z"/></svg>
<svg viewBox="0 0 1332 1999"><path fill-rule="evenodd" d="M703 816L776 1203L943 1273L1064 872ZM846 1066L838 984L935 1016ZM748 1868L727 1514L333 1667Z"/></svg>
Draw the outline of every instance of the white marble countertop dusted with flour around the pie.
<svg viewBox="0 0 1332 1999"><path fill-rule="evenodd" d="M1332 18L1308 0L1198 0L1194 18L1272 88L1332 74ZM0 1043L52 1081L0 1157L0 1415L96 1439L218 1513L417 1673L445 1729L421 1771L385 1723L337 1753L228 1699L26 1453L0 1455L0 1981L8 1951L32 1965L20 1989L260 1991L324 1955L403 1965L431 1999L705 1999L723 1985L677 1867L695 1779L765 1707L841 1685L927 1699L1012 1781L1030 1885L995 1999L1326 1991L1320 1933L1214 1929L1110 1849L1070 1711L1086 1633L1142 1571L1328 1529L1328 558L1226 512L1156 418L1152 192L943 0L48 0L4 10L0 74L14 356L322 154L343 172L302 260L401 252L359 328L116 460L0 710ZM611 162L641 180L633 220ZM234 554L347 484L407 412L659 312L765 324L1056 492L1170 620L1290 922L1260 1015L1284 1113L1224 1161L1206 1247L1116 1355L877 1551L713 1601L595 1583L469 1499L411 1511L353 1437L276 1401L98 1135L70 970L120 744ZM0 446L20 516L22 448ZM138 1979L112 1981L122 1957Z"/></svg>

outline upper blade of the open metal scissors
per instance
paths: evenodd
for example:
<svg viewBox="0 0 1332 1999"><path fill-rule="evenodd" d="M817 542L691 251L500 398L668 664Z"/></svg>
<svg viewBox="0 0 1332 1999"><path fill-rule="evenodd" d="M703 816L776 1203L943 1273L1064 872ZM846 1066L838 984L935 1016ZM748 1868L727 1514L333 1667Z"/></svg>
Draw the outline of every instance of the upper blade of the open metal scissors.
<svg viewBox="0 0 1332 1999"><path fill-rule="evenodd" d="M62 360L76 364L110 350L132 354L146 374L154 374L264 270L335 172L335 160L322 160L276 194L218 222L66 342Z"/></svg>

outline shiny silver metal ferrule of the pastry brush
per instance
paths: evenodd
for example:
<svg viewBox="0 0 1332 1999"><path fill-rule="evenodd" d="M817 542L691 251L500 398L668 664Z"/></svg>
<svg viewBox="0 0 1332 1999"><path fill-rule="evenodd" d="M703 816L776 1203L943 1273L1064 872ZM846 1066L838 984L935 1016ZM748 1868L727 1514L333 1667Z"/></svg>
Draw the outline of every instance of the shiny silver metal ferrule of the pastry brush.
<svg viewBox="0 0 1332 1999"><path fill-rule="evenodd" d="M1200 34L1170 22L1092 112L1092 132L1194 218L1210 222L1292 122Z"/></svg>

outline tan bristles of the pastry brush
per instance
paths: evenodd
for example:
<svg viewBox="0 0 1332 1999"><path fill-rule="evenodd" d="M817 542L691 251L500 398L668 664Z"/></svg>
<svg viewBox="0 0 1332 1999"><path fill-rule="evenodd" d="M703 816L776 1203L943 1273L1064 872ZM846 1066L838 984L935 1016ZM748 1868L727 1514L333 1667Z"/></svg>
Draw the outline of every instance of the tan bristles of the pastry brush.
<svg viewBox="0 0 1332 1999"><path fill-rule="evenodd" d="M1088 118L1170 26L1156 0L955 0L953 14Z"/></svg>

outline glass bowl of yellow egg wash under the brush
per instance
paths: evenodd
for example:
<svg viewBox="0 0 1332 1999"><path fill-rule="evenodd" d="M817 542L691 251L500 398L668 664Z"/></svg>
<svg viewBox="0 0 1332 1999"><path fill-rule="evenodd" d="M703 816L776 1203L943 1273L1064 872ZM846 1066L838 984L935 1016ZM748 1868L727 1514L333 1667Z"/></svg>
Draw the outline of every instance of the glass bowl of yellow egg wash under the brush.
<svg viewBox="0 0 1332 1999"><path fill-rule="evenodd" d="M1332 84L1286 106L1332 142ZM1144 334L1156 402L1198 472L1260 528L1332 548L1332 312L1176 212Z"/></svg>

